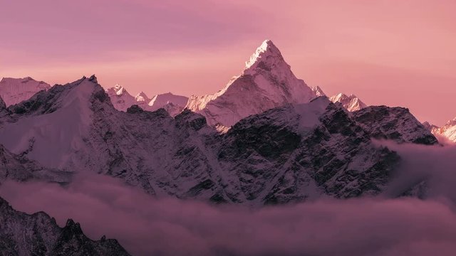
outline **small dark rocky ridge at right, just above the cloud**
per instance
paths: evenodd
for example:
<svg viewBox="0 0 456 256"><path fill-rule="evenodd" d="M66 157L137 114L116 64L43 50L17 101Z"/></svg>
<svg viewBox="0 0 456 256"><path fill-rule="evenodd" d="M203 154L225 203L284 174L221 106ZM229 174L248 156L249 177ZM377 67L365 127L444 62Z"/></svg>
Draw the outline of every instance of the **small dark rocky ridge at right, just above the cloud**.
<svg viewBox="0 0 456 256"><path fill-rule="evenodd" d="M403 107L366 107L353 112L353 118L375 139L425 145L438 143L423 124Z"/></svg>

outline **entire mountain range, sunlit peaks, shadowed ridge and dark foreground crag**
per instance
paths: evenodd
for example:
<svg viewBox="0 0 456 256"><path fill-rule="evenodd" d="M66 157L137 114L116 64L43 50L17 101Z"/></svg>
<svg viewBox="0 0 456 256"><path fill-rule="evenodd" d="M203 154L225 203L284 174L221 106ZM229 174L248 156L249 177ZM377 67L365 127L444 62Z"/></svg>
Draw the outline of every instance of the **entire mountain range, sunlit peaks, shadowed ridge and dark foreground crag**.
<svg viewBox="0 0 456 256"><path fill-rule="evenodd" d="M66 186L90 172L151 198L259 208L378 196L402 162L379 141L437 145L436 135L456 142L455 120L435 127L403 107L326 97L296 78L269 40L212 95L133 96L120 85L104 89L92 75L52 87L4 78L0 96L0 183ZM422 183L392 196L421 198L426 191L414 191ZM90 240L73 220L61 228L46 213L21 213L3 199L0 213L8 255L128 255L115 240Z"/></svg>

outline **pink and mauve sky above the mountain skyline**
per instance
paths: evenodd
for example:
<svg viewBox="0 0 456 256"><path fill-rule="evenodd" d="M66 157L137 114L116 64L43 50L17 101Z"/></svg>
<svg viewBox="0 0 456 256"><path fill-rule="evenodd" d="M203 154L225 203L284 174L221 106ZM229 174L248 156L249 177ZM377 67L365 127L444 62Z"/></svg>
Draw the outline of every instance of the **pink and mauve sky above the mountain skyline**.
<svg viewBox="0 0 456 256"><path fill-rule="evenodd" d="M269 38L327 95L456 116L456 1L0 0L0 77L213 93Z"/></svg>

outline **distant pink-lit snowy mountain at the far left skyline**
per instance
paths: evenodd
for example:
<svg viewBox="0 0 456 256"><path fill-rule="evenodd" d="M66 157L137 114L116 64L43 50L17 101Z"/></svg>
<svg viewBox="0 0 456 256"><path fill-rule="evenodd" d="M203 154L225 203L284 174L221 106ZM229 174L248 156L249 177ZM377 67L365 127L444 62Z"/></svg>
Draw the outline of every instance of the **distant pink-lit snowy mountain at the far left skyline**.
<svg viewBox="0 0 456 256"><path fill-rule="evenodd" d="M0 81L0 97L6 106L28 100L36 92L48 90L51 85L36 81L33 78L2 78Z"/></svg>

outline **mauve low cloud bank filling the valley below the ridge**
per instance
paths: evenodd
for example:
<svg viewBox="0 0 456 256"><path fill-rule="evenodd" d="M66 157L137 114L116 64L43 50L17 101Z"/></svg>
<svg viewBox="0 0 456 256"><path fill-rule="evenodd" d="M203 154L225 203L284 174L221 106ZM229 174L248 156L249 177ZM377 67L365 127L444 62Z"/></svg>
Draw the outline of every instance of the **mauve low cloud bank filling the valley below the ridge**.
<svg viewBox="0 0 456 256"><path fill-rule="evenodd" d="M67 188L9 181L0 196L59 225L73 218L90 238L116 238L133 255L454 255L455 148L389 146L404 160L392 188L426 177L438 193L252 209L155 199L114 178L79 176Z"/></svg>

